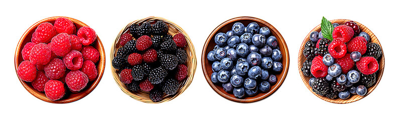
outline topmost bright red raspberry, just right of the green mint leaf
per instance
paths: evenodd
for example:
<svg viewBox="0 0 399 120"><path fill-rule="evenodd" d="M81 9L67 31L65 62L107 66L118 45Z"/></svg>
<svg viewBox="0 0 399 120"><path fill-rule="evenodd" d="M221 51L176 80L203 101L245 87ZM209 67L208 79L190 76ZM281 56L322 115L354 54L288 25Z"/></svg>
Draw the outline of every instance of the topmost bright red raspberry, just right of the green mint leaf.
<svg viewBox="0 0 399 120"><path fill-rule="evenodd" d="M348 42L354 34L353 28L342 24L338 25L333 30L333 39L340 40L342 42Z"/></svg>

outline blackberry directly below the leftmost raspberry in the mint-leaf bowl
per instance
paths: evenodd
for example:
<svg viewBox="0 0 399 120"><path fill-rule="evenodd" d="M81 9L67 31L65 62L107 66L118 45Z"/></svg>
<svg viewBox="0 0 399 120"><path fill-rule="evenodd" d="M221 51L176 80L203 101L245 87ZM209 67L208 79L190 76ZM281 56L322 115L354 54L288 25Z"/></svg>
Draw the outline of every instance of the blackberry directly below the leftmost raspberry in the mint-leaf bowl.
<svg viewBox="0 0 399 120"><path fill-rule="evenodd" d="M312 86L312 90L319 94L319 95L324 95L326 94L327 90L330 88L327 79L324 77L318 77L315 79L315 81L313 81L313 83L311 84Z"/></svg>

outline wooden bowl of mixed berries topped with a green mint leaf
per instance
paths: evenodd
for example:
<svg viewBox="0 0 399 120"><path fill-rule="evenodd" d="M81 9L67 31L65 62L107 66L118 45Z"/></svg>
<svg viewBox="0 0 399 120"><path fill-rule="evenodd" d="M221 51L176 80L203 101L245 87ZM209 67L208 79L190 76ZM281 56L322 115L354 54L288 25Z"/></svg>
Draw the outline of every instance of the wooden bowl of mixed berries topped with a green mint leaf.
<svg viewBox="0 0 399 120"><path fill-rule="evenodd" d="M377 86L384 53L377 37L363 24L323 17L303 41L298 67L313 94L333 103L350 103Z"/></svg>

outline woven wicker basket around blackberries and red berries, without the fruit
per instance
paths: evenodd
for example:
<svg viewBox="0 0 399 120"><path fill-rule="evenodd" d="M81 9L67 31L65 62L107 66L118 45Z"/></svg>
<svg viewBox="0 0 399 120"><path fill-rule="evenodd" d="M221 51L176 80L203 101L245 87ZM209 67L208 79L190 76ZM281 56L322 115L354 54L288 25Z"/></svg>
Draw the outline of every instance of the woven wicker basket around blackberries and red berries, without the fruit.
<svg viewBox="0 0 399 120"><path fill-rule="evenodd" d="M151 24L155 23L156 21L164 21L166 24L169 25L168 34L173 36L173 35L175 35L175 34L180 32L180 33L183 33L184 36L186 36L186 40L187 40L187 46L186 46L186 48L184 48L184 50L186 50L186 53L187 53L187 68L188 68L187 79L184 80L183 82L180 82L179 90L177 91L177 93L172 94L172 95L163 94L163 99L161 101L158 101L158 102L153 102L150 99L149 92L142 91L142 90L129 91L126 88L126 85L119 80L120 71L115 69L115 68L113 68L112 63L111 63L113 57L116 56L117 49L122 47L119 44L120 35L125 33L125 32L127 32L130 25L135 24L135 23L140 24L140 23L143 23L145 21L150 22ZM134 38L134 40L136 40L136 39ZM184 31L180 26L178 26L176 23L174 23L174 22L172 22L172 21L170 21L168 19L165 19L165 18L162 18L162 17L150 16L150 17L147 17L147 18L143 18L143 19L138 19L136 21L132 21L132 22L128 23L122 30L120 30L119 34L116 36L116 39L113 42L112 47L111 47L110 66L111 66L111 71L112 71L113 78L115 79L115 82L118 84L118 86L120 87L120 89L124 93L126 93L127 95L129 95L132 98L135 98L136 100L143 101L143 102L146 102L146 103L161 103L161 102L166 102L166 101L174 99L175 97L177 97L178 95L183 93L183 91L188 88L188 86L193 81L195 69L197 67L197 58L195 57L194 45L191 42L191 39L188 36L188 34L186 33L186 31Z"/></svg>

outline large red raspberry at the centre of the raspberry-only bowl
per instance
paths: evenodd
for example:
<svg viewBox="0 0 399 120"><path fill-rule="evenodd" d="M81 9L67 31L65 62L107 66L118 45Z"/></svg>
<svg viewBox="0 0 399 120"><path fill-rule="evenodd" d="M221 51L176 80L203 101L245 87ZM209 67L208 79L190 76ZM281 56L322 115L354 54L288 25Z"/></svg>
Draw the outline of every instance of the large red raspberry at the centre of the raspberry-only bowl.
<svg viewBox="0 0 399 120"><path fill-rule="evenodd" d="M59 33L51 39L50 48L58 56L65 56L71 50L71 36Z"/></svg>

